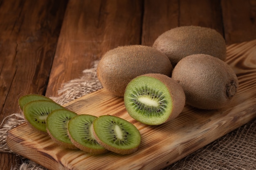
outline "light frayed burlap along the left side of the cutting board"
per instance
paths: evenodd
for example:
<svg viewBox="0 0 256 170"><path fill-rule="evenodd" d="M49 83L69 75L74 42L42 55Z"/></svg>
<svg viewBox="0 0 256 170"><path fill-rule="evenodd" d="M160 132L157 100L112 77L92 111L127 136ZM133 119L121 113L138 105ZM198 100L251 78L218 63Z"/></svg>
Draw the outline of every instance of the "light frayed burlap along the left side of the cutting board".
<svg viewBox="0 0 256 170"><path fill-rule="evenodd" d="M87 95L102 88L99 79L97 78L97 64L99 61L93 63L92 68L83 71L82 77L73 79L65 84L63 88L58 91L58 97L50 97L56 103L64 105L74 99L83 95ZM7 132L16 126L25 123L22 113L14 113L5 117L0 124L0 152L16 154L7 146ZM17 155L19 156L19 155ZM25 159L21 165L13 167L11 170L47 170L46 168L34 163L33 161Z"/></svg>

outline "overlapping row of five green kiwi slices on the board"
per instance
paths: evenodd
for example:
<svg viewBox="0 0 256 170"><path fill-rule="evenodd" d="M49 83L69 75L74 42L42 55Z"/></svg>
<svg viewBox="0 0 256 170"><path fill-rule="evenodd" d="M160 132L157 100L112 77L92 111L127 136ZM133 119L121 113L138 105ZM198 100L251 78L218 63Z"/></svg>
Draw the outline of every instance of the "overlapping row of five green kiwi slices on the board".
<svg viewBox="0 0 256 170"><path fill-rule="evenodd" d="M48 134L58 145L91 154L112 151L131 154L139 149L141 135L130 122L116 116L78 115L52 99L29 94L19 98L27 124Z"/></svg>

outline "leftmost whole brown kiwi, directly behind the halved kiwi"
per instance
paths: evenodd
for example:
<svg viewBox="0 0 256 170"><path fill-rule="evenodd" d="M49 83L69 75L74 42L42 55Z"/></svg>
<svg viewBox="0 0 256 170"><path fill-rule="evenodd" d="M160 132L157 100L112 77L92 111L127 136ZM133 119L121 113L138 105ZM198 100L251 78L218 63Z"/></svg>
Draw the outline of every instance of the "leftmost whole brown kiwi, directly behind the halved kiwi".
<svg viewBox="0 0 256 170"><path fill-rule="evenodd" d="M108 51L97 67L99 81L112 94L124 96L127 84L147 73L171 76L172 64L164 53L149 46L119 46Z"/></svg>

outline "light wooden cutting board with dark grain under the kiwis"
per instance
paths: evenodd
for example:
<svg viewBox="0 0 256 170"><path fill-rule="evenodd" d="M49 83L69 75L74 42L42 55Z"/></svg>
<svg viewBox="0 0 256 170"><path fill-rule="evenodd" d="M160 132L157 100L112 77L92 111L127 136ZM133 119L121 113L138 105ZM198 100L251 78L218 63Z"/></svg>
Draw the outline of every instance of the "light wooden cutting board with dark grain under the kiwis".
<svg viewBox="0 0 256 170"><path fill-rule="evenodd" d="M185 106L173 121L147 126L128 115L122 97L115 97L104 88L65 104L78 114L109 114L130 121L139 129L142 140L134 154L90 155L62 148L27 124L10 130L7 144L17 154L49 170L164 168L256 118L256 40L227 46L227 55L226 62L238 76L239 89L233 102L220 110Z"/></svg>

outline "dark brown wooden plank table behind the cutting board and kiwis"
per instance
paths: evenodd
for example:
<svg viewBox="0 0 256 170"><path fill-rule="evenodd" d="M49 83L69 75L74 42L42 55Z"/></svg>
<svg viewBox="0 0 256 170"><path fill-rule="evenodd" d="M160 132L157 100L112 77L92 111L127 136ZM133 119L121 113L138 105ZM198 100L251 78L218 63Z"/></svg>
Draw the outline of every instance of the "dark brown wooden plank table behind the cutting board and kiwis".
<svg viewBox="0 0 256 170"><path fill-rule="evenodd" d="M256 39L255 0L1 0L0 122L28 93L58 96L117 46L151 46L171 28L216 29L227 44ZM20 157L0 153L0 169Z"/></svg>

